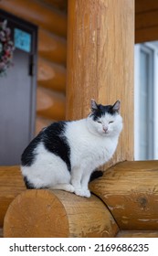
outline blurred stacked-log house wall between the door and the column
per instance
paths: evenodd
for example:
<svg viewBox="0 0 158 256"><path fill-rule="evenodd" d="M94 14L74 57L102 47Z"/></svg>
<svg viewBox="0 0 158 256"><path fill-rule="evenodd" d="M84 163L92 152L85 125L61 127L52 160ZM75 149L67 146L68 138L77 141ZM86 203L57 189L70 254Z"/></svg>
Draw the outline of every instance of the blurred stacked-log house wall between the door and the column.
<svg viewBox="0 0 158 256"><path fill-rule="evenodd" d="M67 0L1 0L0 8L38 27L37 133L65 119Z"/></svg>

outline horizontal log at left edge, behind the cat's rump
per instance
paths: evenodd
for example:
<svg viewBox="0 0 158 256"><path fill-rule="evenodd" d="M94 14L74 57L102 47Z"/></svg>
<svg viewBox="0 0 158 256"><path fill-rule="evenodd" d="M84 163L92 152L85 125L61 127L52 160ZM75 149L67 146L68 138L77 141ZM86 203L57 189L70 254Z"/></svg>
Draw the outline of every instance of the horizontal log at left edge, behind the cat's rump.
<svg viewBox="0 0 158 256"><path fill-rule="evenodd" d="M0 166L0 228L12 200L26 190L19 166Z"/></svg>

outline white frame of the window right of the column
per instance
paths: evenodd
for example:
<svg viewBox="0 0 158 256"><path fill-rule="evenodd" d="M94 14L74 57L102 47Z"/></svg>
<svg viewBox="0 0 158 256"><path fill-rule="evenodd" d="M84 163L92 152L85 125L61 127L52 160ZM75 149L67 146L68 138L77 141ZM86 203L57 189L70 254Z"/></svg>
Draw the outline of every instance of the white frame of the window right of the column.
<svg viewBox="0 0 158 256"><path fill-rule="evenodd" d="M135 76L134 76L134 158L135 160L140 160L140 134L138 133L140 127L140 60L141 60L141 50L153 50L153 88L151 93L153 93L153 105L151 105L151 111L153 112L153 132L151 132L151 148L150 152L153 151L152 155L149 155L150 159L158 159L158 43L150 42L144 44L138 44L135 46ZM150 114L150 112L149 112Z"/></svg>

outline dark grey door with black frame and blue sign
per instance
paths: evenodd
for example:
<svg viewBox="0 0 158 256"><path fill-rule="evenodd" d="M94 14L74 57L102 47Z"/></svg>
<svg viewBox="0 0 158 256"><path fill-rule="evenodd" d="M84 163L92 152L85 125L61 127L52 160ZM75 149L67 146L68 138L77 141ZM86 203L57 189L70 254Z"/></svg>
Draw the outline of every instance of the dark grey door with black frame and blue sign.
<svg viewBox="0 0 158 256"><path fill-rule="evenodd" d="M37 91L37 27L0 10L15 51L13 67L0 77L0 165L19 165L34 136Z"/></svg>

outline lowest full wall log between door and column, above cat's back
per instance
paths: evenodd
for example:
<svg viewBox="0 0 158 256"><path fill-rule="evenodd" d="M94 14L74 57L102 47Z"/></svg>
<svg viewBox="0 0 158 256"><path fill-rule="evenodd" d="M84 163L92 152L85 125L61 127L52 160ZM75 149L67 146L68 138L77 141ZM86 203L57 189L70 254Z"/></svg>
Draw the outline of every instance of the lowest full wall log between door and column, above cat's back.
<svg viewBox="0 0 158 256"><path fill-rule="evenodd" d="M37 87L37 115L46 119L65 120L65 95Z"/></svg>

